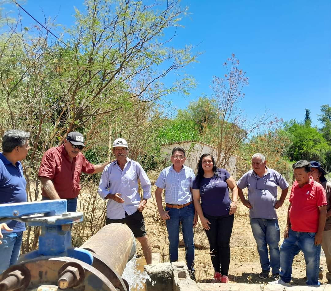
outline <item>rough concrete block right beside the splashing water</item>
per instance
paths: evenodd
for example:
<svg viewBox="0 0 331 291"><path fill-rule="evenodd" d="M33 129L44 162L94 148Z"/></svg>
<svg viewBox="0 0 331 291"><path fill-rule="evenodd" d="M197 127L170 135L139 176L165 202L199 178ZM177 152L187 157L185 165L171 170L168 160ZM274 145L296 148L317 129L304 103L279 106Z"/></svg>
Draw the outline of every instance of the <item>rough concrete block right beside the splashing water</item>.
<svg viewBox="0 0 331 291"><path fill-rule="evenodd" d="M147 291L172 290L172 266L170 263L145 265L144 270L152 279L152 282L146 281Z"/></svg>

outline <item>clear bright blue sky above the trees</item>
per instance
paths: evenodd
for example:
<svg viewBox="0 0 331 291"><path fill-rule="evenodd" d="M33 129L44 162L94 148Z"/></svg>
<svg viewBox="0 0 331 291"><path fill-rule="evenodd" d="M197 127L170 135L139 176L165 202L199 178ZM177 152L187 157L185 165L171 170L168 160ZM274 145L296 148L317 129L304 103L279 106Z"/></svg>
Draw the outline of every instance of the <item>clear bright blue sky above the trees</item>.
<svg viewBox="0 0 331 291"><path fill-rule="evenodd" d="M82 0L26 0L24 8L39 21L57 16L70 26L73 6ZM223 76L223 62L236 54L249 77L241 107L249 117L270 110L278 118L303 120L305 108L320 126L320 106L331 105L331 1L330 0L183 0L189 15L177 29L171 45L198 45L199 63L186 72L197 82L189 97L171 96L180 108L202 93L211 95L213 76ZM16 10L14 5L10 5ZM8 6L7 6L8 7ZM33 24L24 12L22 16ZM169 82L170 80L166 80Z"/></svg>

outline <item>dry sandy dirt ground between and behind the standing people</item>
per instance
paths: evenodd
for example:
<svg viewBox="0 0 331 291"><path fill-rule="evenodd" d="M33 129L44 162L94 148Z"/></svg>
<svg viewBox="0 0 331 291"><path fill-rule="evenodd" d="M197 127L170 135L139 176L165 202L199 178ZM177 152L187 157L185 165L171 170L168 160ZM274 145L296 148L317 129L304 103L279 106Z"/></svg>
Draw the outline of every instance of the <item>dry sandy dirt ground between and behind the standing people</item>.
<svg viewBox="0 0 331 291"><path fill-rule="evenodd" d="M245 192L244 194L246 195ZM280 192L278 193L278 198L279 197ZM258 283L271 281L271 278L262 280L258 276L261 272L261 266L256 243L249 223L249 209L243 204L241 204L239 199L238 201L238 208L235 214L233 231L230 240L231 262L229 269L229 278L232 282L235 283ZM287 199L284 205L280 209L277 209L281 233L280 244L283 241L282 234L286 225L288 205L289 202ZM153 197L148 200L147 207L143 212L146 230L150 239L150 243L152 245L152 252L159 252L161 255L161 261L168 262L169 242L166 224L160 219L156 210L157 206L153 192ZM211 279L213 278L213 266L210 258L209 243L205 230L200 223L200 220L198 225L194 228L194 243L197 281L211 282ZM137 256L142 256L142 250L138 242ZM179 247L178 260L185 261L184 246ZM323 279L320 280L320 282L322 284L326 284L325 270L327 268L325 257L323 255L321 256L320 266L323 266L324 268L324 276ZM306 264L302 252L300 252L299 255L294 258L292 276L292 284L306 285Z"/></svg>

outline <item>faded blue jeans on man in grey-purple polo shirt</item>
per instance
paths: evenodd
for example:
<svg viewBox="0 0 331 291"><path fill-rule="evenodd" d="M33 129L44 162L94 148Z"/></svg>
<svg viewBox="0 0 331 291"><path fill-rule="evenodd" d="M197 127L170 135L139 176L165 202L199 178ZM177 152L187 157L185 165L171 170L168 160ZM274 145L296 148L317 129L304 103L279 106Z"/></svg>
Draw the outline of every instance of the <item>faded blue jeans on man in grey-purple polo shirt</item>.
<svg viewBox="0 0 331 291"><path fill-rule="evenodd" d="M280 241L280 233L278 219L251 218L250 222L253 236L258 245L262 270L270 271L271 268L273 274L279 273L280 255L278 243ZM267 245L269 246L270 261Z"/></svg>

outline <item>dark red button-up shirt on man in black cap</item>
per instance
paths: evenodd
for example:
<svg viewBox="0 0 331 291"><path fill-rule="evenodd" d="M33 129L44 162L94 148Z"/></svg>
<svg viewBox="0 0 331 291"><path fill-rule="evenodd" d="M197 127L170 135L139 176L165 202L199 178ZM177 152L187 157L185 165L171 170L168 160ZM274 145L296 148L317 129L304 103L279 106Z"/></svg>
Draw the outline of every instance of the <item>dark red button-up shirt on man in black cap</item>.
<svg viewBox="0 0 331 291"><path fill-rule="evenodd" d="M70 199L79 195L82 172L92 174L94 165L81 152L71 162L64 145L60 145L52 147L44 153L38 176L51 179L61 199ZM41 194L47 197L44 189Z"/></svg>

